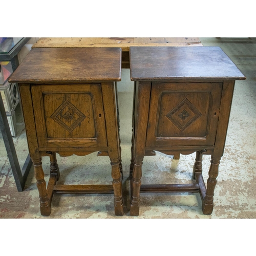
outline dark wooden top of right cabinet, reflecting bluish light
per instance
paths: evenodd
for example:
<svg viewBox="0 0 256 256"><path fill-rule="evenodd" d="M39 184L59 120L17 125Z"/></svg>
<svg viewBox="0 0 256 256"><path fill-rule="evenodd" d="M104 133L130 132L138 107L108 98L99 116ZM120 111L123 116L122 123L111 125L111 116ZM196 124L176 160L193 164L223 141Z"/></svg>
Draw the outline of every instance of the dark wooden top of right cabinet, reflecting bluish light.
<svg viewBox="0 0 256 256"><path fill-rule="evenodd" d="M131 47L131 80L244 80L220 47Z"/></svg>

